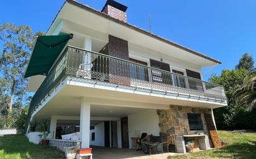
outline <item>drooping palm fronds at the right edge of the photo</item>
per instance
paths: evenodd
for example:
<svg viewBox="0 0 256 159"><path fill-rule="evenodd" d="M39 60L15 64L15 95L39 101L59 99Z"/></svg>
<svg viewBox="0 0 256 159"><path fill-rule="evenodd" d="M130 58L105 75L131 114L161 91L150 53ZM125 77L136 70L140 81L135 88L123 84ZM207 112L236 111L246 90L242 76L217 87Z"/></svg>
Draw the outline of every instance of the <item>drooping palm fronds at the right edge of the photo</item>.
<svg viewBox="0 0 256 159"><path fill-rule="evenodd" d="M251 72L244 79L244 83L234 92L235 98L239 100L239 106L252 108L256 103L256 71Z"/></svg>

